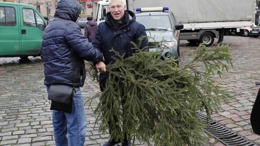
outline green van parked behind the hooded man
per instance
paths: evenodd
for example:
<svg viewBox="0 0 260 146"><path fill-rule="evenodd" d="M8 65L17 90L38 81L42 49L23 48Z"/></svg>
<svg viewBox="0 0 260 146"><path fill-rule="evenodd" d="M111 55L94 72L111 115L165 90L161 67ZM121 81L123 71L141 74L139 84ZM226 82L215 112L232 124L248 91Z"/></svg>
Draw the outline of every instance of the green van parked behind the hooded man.
<svg viewBox="0 0 260 146"><path fill-rule="evenodd" d="M31 5L0 2L0 57L39 56L46 26Z"/></svg>

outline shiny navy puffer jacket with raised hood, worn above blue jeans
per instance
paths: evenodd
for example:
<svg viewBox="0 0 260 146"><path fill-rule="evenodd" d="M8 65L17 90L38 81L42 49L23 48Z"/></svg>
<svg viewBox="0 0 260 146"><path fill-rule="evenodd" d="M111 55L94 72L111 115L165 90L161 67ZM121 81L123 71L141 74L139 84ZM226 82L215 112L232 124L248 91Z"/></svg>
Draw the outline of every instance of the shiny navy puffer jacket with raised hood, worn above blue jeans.
<svg viewBox="0 0 260 146"><path fill-rule="evenodd" d="M59 0L54 19L45 28L40 51L44 66L44 84L82 87L86 77L84 59L102 61L75 23L82 5L75 0Z"/></svg>

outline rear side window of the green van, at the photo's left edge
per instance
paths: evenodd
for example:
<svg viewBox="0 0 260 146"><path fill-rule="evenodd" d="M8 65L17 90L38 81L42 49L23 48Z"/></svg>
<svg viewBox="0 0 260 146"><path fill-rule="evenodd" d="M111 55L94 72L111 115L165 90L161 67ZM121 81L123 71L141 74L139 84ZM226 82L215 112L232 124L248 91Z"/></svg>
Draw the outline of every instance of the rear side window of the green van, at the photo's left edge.
<svg viewBox="0 0 260 146"><path fill-rule="evenodd" d="M16 25L15 10L13 7L0 7L0 25Z"/></svg>

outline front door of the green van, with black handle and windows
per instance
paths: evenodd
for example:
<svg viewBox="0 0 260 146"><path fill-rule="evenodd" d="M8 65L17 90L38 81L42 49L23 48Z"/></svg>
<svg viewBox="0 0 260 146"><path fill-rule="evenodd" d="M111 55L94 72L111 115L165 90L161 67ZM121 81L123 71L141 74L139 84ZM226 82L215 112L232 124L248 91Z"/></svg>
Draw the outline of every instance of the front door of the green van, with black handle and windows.
<svg viewBox="0 0 260 146"><path fill-rule="evenodd" d="M21 19L21 55L38 55L46 23L32 7L19 6Z"/></svg>

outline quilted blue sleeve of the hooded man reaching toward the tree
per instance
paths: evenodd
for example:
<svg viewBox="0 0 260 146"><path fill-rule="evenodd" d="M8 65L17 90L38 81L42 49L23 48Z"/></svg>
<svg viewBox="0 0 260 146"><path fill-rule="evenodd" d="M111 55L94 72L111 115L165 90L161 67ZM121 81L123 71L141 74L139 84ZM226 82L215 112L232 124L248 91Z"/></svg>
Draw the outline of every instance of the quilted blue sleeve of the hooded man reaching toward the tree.
<svg viewBox="0 0 260 146"><path fill-rule="evenodd" d="M83 36L79 26L76 23L71 23L64 33L68 44L79 57L86 61L98 62L102 61L103 56L100 51L94 49L93 45L88 42L88 39Z"/></svg>

